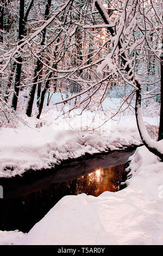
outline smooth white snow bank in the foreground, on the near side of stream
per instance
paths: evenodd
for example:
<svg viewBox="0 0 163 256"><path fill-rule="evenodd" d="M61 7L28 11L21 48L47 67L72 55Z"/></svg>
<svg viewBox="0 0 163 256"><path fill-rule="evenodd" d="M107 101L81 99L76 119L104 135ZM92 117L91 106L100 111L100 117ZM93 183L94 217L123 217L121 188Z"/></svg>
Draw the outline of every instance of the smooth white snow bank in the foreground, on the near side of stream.
<svg viewBox="0 0 163 256"><path fill-rule="evenodd" d="M163 163L144 146L130 160L128 187L98 197L65 196L28 234L1 231L0 243L162 245Z"/></svg>

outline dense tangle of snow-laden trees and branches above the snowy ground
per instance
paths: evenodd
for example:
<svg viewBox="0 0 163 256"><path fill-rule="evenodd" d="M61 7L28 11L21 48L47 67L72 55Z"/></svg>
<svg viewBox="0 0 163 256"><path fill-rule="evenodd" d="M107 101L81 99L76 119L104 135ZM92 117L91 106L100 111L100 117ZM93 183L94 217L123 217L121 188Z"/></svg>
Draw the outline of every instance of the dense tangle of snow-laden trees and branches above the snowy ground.
<svg viewBox="0 0 163 256"><path fill-rule="evenodd" d="M158 154L141 115L141 101L161 103L162 3L160 0L1 0L0 113L40 118L45 95L59 92L76 108L101 107L116 90L122 111L136 100L143 142ZM121 92L121 93L120 93ZM5 110L6 109L6 110ZM163 110L162 110L163 111ZM113 115L115 115L114 113ZM163 138L161 126L159 139ZM15 118L15 117L14 117ZM109 117L106 117L107 121ZM159 155L162 159L162 152Z"/></svg>

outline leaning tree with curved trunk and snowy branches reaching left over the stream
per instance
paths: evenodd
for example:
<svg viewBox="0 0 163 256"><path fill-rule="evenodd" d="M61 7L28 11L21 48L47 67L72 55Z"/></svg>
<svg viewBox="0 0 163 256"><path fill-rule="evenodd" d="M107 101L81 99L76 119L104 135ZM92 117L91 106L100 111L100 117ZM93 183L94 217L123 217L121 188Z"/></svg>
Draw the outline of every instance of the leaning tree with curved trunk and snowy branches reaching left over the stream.
<svg viewBox="0 0 163 256"><path fill-rule="evenodd" d="M109 9L108 4L109 3ZM156 45L162 44L162 8L161 2L153 0L124 0L124 1L101 1L94 0L92 6L92 13L101 16L103 23L98 25L92 25L91 23L84 26L85 29L99 29L105 28L107 33L107 41L103 47L107 47L108 54L104 59L93 59L90 66L97 65L97 74L105 74L104 78L99 82L91 85L88 88L84 88L83 91L74 96L68 97L64 101L78 97L89 91L91 93L86 95L82 101L78 103L81 106L87 100L91 100L91 97L97 93L101 88L104 81L117 81L120 77L122 81L129 84L133 91L130 96L135 94L135 115L137 121L137 127L140 133L143 144L153 154L160 157L163 160L163 148L162 148L162 87L161 87L161 111L160 111L160 126L159 126L159 141L152 139L146 130L145 123L142 118L141 111L141 98L142 92L144 94L143 87L148 87L150 82L142 77L136 71L136 65L147 65L149 62L148 57L150 54L155 58L155 64L160 65L158 67L160 72L160 81L162 80L162 48L158 48ZM101 47L101 50L103 50ZM98 51L98 52L99 52ZM97 52L96 52L97 55ZM83 70L85 66L81 65L79 70ZM61 71L61 70L60 70ZM72 70L73 71L73 70ZM64 70L62 70L64 72ZM69 72L71 72L69 70ZM157 84L154 83L154 87ZM107 87L107 86L106 86ZM110 83L108 83L110 87ZM149 96L148 92L148 96ZM126 100L126 99L125 99ZM60 101L57 103L61 103ZM74 106L73 108L76 108ZM72 109L73 109L72 108Z"/></svg>

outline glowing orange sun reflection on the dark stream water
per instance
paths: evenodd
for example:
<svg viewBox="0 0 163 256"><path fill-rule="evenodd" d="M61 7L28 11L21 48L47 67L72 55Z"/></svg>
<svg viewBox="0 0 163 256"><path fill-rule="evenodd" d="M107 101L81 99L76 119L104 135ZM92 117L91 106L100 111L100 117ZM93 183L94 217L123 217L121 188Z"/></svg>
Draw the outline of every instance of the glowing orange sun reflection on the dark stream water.
<svg viewBox="0 0 163 256"><path fill-rule="evenodd" d="M67 182L68 187L75 188L75 194L86 193L99 196L104 191L116 192L120 190L124 165L96 169L94 172L80 176Z"/></svg>

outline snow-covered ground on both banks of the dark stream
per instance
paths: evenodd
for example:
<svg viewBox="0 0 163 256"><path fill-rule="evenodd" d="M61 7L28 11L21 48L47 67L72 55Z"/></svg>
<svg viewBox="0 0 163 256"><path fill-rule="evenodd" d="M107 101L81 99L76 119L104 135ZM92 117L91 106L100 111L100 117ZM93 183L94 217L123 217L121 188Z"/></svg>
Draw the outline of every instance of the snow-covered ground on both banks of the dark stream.
<svg viewBox="0 0 163 256"><path fill-rule="evenodd" d="M117 116L92 131L92 127L101 125L99 119L105 120L104 113L93 122L91 111L83 116L72 112L66 119L54 120L57 114L57 109L47 109L40 121L26 118L30 127L20 125L0 130L1 177L21 175L29 168L47 168L68 157L141 142L134 115L124 115L121 119ZM145 121L151 125L158 122L148 117ZM86 131L86 126L90 131ZM106 191L98 197L65 196L28 234L0 231L0 244L162 245L163 163L145 147L138 148L130 160L133 176L124 190ZM11 172L9 167L14 170Z"/></svg>

